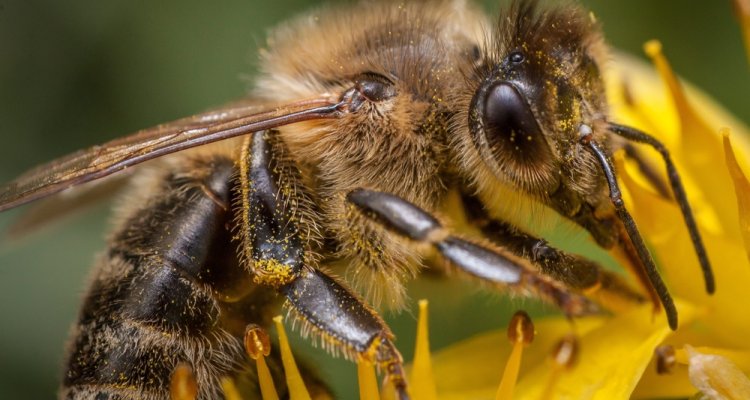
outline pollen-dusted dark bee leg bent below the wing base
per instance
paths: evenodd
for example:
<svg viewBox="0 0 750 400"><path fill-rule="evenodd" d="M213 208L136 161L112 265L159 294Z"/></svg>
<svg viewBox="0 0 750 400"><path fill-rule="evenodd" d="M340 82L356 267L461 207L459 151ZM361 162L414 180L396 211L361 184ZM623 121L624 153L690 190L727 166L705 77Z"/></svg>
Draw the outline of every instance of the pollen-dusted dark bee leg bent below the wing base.
<svg viewBox="0 0 750 400"><path fill-rule="evenodd" d="M286 149L272 134L248 137L240 158L238 226L244 265L256 284L275 289L305 329L333 352L379 364L407 398L393 333L357 295L315 268L305 229L306 190ZM297 176L295 176L297 175Z"/></svg>

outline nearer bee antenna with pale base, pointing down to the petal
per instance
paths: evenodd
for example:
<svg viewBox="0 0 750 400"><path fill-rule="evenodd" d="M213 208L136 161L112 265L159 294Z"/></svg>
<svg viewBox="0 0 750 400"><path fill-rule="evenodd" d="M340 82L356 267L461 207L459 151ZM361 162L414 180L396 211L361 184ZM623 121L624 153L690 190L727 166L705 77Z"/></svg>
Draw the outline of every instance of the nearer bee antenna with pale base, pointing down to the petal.
<svg viewBox="0 0 750 400"><path fill-rule="evenodd" d="M594 156L596 156L597 160L599 161L599 165L601 165L604 176L607 179L607 184L609 185L609 198L612 201L612 204L615 206L617 216L625 226L625 231L628 233L628 237L630 238L633 247L635 247L635 251L638 253L638 258L641 260L641 263L645 268L648 280L656 290L662 306L664 306L664 311L667 314L669 327L672 330L676 330L677 308L674 305L674 300L669 294L669 290L664 284L664 281L661 279L659 271L656 270L654 259L653 257L651 257L651 253L649 253L648 249L646 248L646 244L643 242L643 238L641 237L641 233L638 231L638 227L636 227L635 225L633 217L625 208L625 202L622 200L622 192L620 191L620 186L617 184L617 177L615 176L615 171L612 167L612 163L610 162L609 158L607 158L607 155L604 153L599 144L597 144L593 140L593 132L587 125L583 125L581 127L580 141L594 154Z"/></svg>

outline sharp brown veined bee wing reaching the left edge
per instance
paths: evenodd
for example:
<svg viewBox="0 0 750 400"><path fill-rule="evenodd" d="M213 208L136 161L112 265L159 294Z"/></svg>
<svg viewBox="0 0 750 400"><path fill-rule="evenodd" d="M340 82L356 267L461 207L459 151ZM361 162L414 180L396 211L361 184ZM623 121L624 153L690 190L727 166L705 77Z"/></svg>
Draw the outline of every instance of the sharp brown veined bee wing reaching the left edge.
<svg viewBox="0 0 750 400"><path fill-rule="evenodd" d="M322 96L275 108L242 100L79 150L1 186L0 211L180 150L295 122L338 118L344 102L333 99Z"/></svg>

